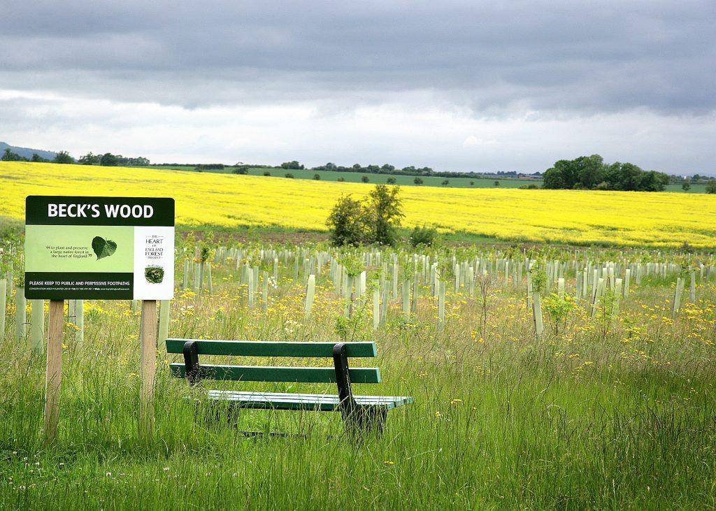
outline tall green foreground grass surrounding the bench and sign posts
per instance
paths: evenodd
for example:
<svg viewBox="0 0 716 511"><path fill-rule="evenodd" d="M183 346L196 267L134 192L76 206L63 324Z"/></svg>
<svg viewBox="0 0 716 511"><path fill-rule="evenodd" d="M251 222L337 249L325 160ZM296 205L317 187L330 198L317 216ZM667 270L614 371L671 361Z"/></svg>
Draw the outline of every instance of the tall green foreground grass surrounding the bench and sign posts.
<svg viewBox="0 0 716 511"><path fill-rule="evenodd" d="M315 316L304 321L304 284L294 281L292 261L281 262L265 313L246 306L235 265L218 263L213 295L178 293L170 335L336 339L342 303L327 269ZM574 275L567 278L570 291ZM142 441L140 318L127 302L88 302L84 342L65 328L59 437L46 445L44 357L16 341L10 307L0 337L0 508L714 507L716 354L707 341L716 288L700 283L700 301L684 305L672 325L663 318L673 280L634 286L619 321L591 321L579 303L566 330L542 339L521 293L493 288L480 332L480 302L464 288L450 291L438 330L422 287L416 316L404 318L395 303L377 331L359 323L355 338L374 339L378 357L358 364L379 366L383 383L357 385L357 393L415 397L389 414L382 437L361 442L344 434L338 414L221 412L217 420L200 391L170 377L166 361L181 356L163 346L155 438ZM204 388L334 391L211 381ZM246 438L237 430L301 436Z"/></svg>

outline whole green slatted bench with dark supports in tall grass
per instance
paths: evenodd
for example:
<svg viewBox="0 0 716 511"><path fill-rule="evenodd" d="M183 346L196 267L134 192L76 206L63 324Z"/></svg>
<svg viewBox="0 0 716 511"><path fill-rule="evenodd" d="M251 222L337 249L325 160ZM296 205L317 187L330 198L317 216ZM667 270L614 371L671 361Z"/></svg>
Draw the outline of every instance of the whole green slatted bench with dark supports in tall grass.
<svg viewBox="0 0 716 511"><path fill-rule="evenodd" d="M341 412L347 429L382 428L390 409L412 403L412 397L356 396L352 384L377 384L377 367L348 366L353 357L376 356L373 342L276 342L167 339L167 352L184 355L183 364L169 364L171 374L194 386L203 379L336 383L338 394L297 394L210 390L208 399L241 408ZM333 367L228 366L200 364L199 355L332 358Z"/></svg>

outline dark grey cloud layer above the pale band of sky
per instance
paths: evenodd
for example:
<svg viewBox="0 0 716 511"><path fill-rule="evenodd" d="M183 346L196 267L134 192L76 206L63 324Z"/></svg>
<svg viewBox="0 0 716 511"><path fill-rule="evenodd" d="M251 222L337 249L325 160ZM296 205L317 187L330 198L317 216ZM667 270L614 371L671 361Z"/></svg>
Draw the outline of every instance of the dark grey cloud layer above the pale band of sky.
<svg viewBox="0 0 716 511"><path fill-rule="evenodd" d="M13 1L0 87L200 106L430 90L476 115L716 108L716 2Z"/></svg>

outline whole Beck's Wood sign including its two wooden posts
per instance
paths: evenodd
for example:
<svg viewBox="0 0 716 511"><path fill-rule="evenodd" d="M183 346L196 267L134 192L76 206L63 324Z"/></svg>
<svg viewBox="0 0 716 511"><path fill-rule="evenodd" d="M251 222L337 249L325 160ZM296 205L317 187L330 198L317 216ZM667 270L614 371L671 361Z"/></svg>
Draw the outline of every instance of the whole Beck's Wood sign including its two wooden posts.
<svg viewBox="0 0 716 511"><path fill-rule="evenodd" d="M142 301L139 427L140 436L151 439L157 301L168 301L174 294L174 200L30 195L25 201L25 254L21 298L37 300L38 306L50 301L44 408L47 440L57 437L59 422L65 300L78 305L82 300ZM81 321L77 324L82 327ZM82 341L82 336L74 341Z"/></svg>

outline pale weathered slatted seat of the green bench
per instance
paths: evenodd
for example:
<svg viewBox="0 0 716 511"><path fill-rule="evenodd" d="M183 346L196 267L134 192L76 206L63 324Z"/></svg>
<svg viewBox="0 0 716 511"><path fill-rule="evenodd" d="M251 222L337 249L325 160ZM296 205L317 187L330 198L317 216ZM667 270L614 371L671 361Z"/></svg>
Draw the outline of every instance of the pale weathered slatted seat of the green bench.
<svg viewBox="0 0 716 511"><path fill-rule="evenodd" d="M283 409L283 410L320 410L336 412L339 410L339 397L330 394L290 394L256 391L209 391L209 399L231 401L242 408ZM393 409L412 403L412 397L405 396L353 396L359 407L378 407Z"/></svg>

